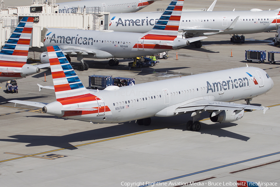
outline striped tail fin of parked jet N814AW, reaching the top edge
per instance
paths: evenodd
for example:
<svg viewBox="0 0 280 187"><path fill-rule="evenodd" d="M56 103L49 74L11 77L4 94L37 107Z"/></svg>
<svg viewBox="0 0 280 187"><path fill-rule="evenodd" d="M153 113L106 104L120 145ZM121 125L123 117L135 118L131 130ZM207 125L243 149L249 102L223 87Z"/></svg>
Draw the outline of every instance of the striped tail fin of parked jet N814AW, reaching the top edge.
<svg viewBox="0 0 280 187"><path fill-rule="evenodd" d="M177 37L183 4L184 0L172 0L148 34Z"/></svg>

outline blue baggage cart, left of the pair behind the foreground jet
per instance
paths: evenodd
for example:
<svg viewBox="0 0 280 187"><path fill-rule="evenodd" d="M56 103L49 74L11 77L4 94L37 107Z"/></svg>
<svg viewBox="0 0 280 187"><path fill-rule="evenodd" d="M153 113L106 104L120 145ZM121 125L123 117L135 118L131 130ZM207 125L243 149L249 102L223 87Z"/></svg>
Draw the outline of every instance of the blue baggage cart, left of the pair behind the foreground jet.
<svg viewBox="0 0 280 187"><path fill-rule="evenodd" d="M107 86L113 85L112 76L107 75L91 75L88 76L88 86L91 89L100 89L103 90Z"/></svg>

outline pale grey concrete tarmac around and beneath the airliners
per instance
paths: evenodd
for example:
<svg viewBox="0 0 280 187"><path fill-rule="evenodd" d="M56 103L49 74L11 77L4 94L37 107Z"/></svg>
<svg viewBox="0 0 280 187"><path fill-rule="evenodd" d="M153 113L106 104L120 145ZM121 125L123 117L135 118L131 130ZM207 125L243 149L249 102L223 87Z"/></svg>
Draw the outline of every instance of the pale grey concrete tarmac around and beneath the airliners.
<svg viewBox="0 0 280 187"><path fill-rule="evenodd" d="M155 2L150 8L160 8L164 3L168 1ZM201 1L197 7L208 7L211 3ZM216 6L251 9L252 4L254 8L280 7L279 1L220 1ZM272 44L274 36L275 32L246 34L245 44L231 43L229 35L209 36L203 40L202 48L172 50L167 60L143 69L129 68L129 60L120 60L119 66L110 67L108 60L92 59L85 59L89 70L77 71L76 66L74 69L85 86L88 76L93 74L132 77L136 84L171 79L246 66L245 50L279 51ZM36 53L35 59L39 55ZM29 57L34 58L33 53ZM277 58L280 61L280 56ZM1 187L236 187L236 180L279 186L280 62L270 65L266 60L264 64L248 65L264 69L272 77L273 89L251 102L271 106L270 109L265 115L262 111L246 112L242 119L231 123L213 123L208 113L202 113L199 132L186 131L190 114L152 117L150 126L134 122L92 124L44 114L36 107L7 103L12 99L55 101L54 90L39 92L36 85L53 85L49 68L18 80L19 93L6 93L5 83L0 83Z"/></svg>

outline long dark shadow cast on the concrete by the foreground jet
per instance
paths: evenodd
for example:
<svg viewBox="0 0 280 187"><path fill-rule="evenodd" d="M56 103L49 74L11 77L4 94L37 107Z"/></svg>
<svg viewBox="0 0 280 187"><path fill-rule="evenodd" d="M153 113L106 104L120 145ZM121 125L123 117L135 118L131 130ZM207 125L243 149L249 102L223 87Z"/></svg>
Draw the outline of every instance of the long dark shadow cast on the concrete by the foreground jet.
<svg viewBox="0 0 280 187"><path fill-rule="evenodd" d="M38 117L38 115L29 116L29 117ZM55 118L54 116L50 116L50 117ZM102 140L102 139L125 136L133 133L156 130L161 128L186 131L185 125L181 125L184 124L184 122L182 121L186 120L185 117L181 119L179 118L179 120L176 120L178 119L177 116L176 119L175 117L165 117L165 118L152 117L152 121L154 122L152 122L150 126L139 126L137 123L134 123L135 121L133 121L131 123L125 122L110 127L103 127L103 128L93 129L84 132L77 132L73 134L67 134L64 136L13 135L13 136L9 136L9 138L13 138L13 139L0 139L0 141L19 142L25 144L28 143L26 145L27 147L48 145L52 147L59 147L59 148L73 150L73 149L77 149L77 147L73 146L71 144L72 142L79 142L79 144L82 144L82 143L87 143L85 141ZM170 127L170 125L172 127ZM212 125L206 125L204 123L201 123L202 127L199 132L186 131L186 136L189 136L192 133L201 133L201 134L210 134L217 137L230 137L242 141L249 140L250 139L249 137L245 137L243 135L222 129L222 128L232 127L236 125L237 124L235 123L222 123L222 124L216 123Z"/></svg>

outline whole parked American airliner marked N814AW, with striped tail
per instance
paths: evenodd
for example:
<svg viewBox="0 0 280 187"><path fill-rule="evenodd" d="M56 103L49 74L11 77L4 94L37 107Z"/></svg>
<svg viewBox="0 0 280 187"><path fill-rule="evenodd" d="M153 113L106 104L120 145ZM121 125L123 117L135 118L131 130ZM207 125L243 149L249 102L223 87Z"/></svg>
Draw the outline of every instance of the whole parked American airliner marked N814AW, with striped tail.
<svg viewBox="0 0 280 187"><path fill-rule="evenodd" d="M48 28L44 47L35 48L39 52L47 51L47 46L59 46L67 59L76 56L81 62L78 70L87 70L83 57L109 59L109 65L118 65L116 58L135 58L152 55L187 46L190 42L207 38L205 36L189 39L177 38L183 0L173 0L152 30L146 33L88 31L75 29ZM40 56L42 63L48 63L46 53Z"/></svg>

